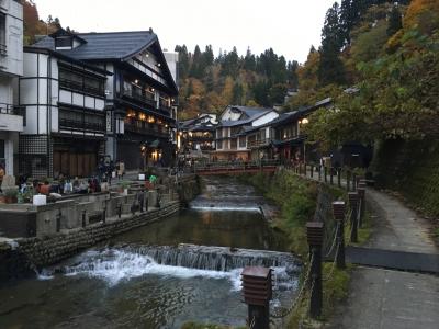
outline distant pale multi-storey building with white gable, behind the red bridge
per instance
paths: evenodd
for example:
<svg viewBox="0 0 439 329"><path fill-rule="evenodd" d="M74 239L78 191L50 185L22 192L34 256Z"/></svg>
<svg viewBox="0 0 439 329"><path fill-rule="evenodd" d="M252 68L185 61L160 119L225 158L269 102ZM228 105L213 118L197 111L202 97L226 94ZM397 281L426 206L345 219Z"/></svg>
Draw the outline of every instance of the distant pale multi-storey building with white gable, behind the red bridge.
<svg viewBox="0 0 439 329"><path fill-rule="evenodd" d="M255 127L262 126L279 116L273 109L227 106L216 127L216 150L213 157L218 160L249 160L250 148L247 135ZM267 129L264 133L269 133ZM264 136L263 138L269 138ZM252 139L250 138L250 144Z"/></svg>

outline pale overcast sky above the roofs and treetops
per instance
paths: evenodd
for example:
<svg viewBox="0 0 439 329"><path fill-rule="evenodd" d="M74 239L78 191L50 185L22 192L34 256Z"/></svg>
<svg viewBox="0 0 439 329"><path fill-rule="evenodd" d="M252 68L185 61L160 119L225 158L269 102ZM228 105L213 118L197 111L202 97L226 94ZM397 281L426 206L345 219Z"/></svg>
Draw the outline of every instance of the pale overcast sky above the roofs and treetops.
<svg viewBox="0 0 439 329"><path fill-rule="evenodd" d="M40 18L59 18L79 32L139 31L153 27L164 48L185 44L193 52L212 44L249 46L260 54L272 47L288 60L306 59L318 46L325 13L335 0L34 0Z"/></svg>

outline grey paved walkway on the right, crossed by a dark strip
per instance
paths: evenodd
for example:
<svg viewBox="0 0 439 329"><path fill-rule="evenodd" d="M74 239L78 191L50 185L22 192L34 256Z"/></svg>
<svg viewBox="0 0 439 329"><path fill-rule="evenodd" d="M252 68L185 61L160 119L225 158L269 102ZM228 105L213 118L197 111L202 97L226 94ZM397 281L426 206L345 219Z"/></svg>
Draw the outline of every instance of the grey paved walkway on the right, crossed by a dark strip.
<svg viewBox="0 0 439 329"><path fill-rule="evenodd" d="M393 196L365 193L374 216L367 247L438 254L428 223ZM347 300L325 328L439 329L439 276L359 266Z"/></svg>

